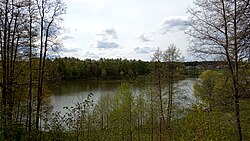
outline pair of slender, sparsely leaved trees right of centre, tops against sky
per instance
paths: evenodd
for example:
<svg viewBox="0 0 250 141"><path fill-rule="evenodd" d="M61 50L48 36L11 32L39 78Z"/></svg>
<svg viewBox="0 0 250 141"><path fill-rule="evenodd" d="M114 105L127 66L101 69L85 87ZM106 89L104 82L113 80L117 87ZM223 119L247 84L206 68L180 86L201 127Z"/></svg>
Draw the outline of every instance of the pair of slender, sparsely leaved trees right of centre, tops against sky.
<svg viewBox="0 0 250 141"><path fill-rule="evenodd" d="M173 95L177 89L175 83L180 78L181 54L174 44L168 46L167 50L159 48L153 55L150 80L156 87L158 110L159 110L159 134L160 140L164 140L167 126L171 140L171 119L173 111ZM151 98L153 97L150 96ZM152 100L151 100L152 101ZM167 104L165 107L164 104ZM165 112L167 111L167 113ZM165 119L165 116L167 119ZM166 122L167 121L167 122ZM166 124L167 123L167 124Z"/></svg>

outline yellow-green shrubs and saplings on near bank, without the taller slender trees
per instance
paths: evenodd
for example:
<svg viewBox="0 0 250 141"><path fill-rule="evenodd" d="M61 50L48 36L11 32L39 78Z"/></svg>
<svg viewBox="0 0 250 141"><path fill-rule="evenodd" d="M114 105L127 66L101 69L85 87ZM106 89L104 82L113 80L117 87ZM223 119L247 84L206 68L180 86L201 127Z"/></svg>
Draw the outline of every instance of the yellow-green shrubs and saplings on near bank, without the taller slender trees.
<svg viewBox="0 0 250 141"><path fill-rule="evenodd" d="M175 91L170 128L167 118L162 128L160 127L161 107L157 85L149 83L147 87L144 85L141 91L132 93L133 85L123 82L115 95L103 94L97 103L92 99L93 94L89 94L86 100L75 103L75 106L64 107L65 113L54 112L47 115L43 118L45 123L39 137L51 141L236 140L232 105L222 101L230 101L230 98L225 95L216 96L220 90L227 88L221 85L221 79L211 80L211 73L217 74L206 71L201 75L202 81L195 84L196 100L191 105L183 104L190 101L190 97L185 97L185 92ZM210 87L207 82L212 81L214 86ZM213 101L210 101L204 90L211 92ZM163 92L163 96L166 96L166 92ZM163 98L163 101L167 103L168 98ZM250 138L249 101L249 98L245 97L241 102L243 138L246 140ZM166 105L163 113L164 117L167 117ZM16 137L20 136L22 140L29 138L30 134L25 129L17 129ZM31 137L34 140L37 136L34 137L31 133Z"/></svg>

